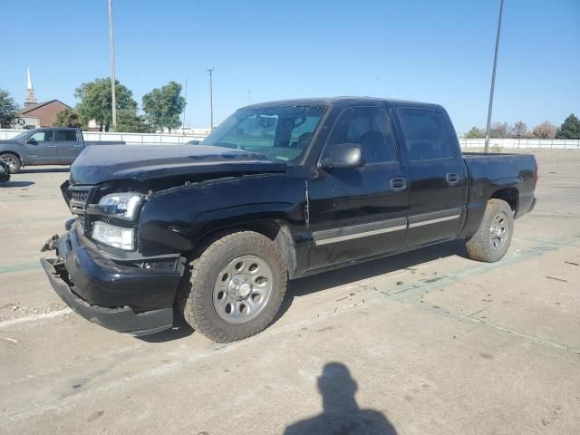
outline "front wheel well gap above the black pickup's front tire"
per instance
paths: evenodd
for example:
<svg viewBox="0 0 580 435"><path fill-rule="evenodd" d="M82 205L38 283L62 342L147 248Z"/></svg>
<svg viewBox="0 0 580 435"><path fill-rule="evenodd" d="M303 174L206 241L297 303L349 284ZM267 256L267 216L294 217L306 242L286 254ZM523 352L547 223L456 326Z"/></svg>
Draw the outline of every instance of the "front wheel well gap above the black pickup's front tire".
<svg viewBox="0 0 580 435"><path fill-rule="evenodd" d="M224 230L229 231L256 231L270 240L272 240L276 247L280 249L282 256L284 256L286 267L288 269L288 275L292 278L295 275L296 270L296 250L294 242L292 241L292 234L290 233L290 228L285 225L284 222L279 222L276 220L261 220L254 222L247 222L243 224L237 224L231 227L221 227L212 230L204 237L202 237L196 246L202 247L211 237L214 237L217 233Z"/></svg>

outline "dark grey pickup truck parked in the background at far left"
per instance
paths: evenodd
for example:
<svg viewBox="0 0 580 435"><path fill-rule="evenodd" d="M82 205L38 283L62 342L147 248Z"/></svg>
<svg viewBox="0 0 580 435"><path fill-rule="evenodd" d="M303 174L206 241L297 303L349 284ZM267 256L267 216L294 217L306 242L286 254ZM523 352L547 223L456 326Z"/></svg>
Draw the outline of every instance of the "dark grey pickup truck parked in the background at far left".
<svg viewBox="0 0 580 435"><path fill-rule="evenodd" d="M0 160L5 161L14 174L23 166L70 165L90 145L124 143L119 140L85 141L80 129L47 127L0 140Z"/></svg>

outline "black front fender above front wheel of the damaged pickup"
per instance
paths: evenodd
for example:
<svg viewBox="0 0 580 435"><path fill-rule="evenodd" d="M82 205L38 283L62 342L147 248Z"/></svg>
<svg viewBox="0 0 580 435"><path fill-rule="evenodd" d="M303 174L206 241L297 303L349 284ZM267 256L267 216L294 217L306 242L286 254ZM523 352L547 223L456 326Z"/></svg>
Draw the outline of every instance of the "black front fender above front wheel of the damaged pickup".
<svg viewBox="0 0 580 435"><path fill-rule="evenodd" d="M188 253L218 229L272 220L293 233L304 227L304 179L268 174L192 183L150 196L138 248L146 256Z"/></svg>

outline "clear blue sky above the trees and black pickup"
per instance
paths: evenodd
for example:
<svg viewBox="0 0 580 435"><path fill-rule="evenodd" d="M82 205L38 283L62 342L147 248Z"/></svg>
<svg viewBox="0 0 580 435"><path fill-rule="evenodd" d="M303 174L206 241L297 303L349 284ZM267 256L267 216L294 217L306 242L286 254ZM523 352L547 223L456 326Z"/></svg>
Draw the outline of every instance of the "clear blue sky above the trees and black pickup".
<svg viewBox="0 0 580 435"><path fill-rule="evenodd" d="M189 78L186 124L250 102L372 95L438 102L484 126L498 0L114 0L117 79L144 93ZM39 101L110 73L107 0L0 0L0 87ZM580 115L580 1L506 0L493 121ZM250 91L250 92L248 92Z"/></svg>

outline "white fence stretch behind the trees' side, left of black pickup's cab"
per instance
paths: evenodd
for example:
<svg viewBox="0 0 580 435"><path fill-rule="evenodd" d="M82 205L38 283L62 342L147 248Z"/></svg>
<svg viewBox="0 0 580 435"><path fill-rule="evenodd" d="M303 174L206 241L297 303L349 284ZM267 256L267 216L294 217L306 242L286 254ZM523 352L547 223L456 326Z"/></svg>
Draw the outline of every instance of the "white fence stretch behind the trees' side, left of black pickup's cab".
<svg viewBox="0 0 580 435"><path fill-rule="evenodd" d="M14 138L22 130L0 130L0 140ZM82 131L84 140L124 140L130 145L180 145L189 140L203 140L205 136L169 133L114 133Z"/></svg>

